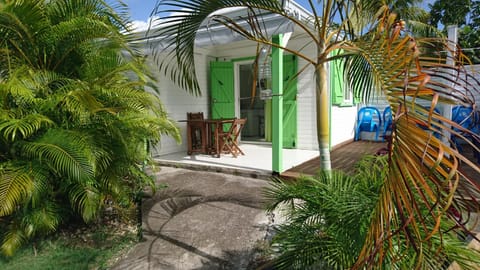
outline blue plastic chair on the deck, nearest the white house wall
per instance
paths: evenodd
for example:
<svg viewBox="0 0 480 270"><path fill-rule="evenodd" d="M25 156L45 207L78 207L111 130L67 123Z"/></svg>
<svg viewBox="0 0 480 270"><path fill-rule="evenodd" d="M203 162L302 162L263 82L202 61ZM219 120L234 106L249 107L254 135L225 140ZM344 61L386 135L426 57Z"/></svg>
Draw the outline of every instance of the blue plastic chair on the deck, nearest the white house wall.
<svg viewBox="0 0 480 270"><path fill-rule="evenodd" d="M376 116L375 116L376 115ZM355 127L355 141L360 140L360 133L375 132L375 140L378 141L378 133L382 127L382 116L375 107L363 107L357 114L357 125Z"/></svg>

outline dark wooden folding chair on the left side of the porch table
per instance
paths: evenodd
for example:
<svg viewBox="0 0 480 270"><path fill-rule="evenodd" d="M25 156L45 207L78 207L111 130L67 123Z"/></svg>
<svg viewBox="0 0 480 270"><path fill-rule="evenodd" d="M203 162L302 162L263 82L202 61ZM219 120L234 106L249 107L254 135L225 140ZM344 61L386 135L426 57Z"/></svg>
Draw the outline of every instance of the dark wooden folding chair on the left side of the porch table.
<svg viewBox="0 0 480 270"><path fill-rule="evenodd" d="M206 152L206 133L203 112L187 113L188 151L192 153Z"/></svg>

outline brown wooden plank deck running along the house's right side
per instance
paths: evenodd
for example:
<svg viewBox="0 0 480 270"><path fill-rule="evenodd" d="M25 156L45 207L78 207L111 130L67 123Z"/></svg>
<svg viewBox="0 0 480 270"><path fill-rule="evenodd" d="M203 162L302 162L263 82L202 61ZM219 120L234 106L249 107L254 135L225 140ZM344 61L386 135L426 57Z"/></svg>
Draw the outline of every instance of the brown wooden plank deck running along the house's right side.
<svg viewBox="0 0 480 270"><path fill-rule="evenodd" d="M351 172L363 156L375 154L387 146L386 142L351 141L335 147L330 153L332 169ZM315 175L319 170L320 157L313 158L281 174L284 178L298 178L300 175Z"/></svg>

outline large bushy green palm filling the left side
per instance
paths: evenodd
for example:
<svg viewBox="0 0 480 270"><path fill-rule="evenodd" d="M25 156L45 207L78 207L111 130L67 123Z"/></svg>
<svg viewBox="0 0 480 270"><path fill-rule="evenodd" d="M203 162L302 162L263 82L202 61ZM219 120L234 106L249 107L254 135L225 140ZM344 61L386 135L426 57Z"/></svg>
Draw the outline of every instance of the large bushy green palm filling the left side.
<svg viewBox="0 0 480 270"><path fill-rule="evenodd" d="M12 255L70 219L95 221L106 201L133 204L153 179L145 143L179 139L128 21L101 0L0 6L0 241Z"/></svg>

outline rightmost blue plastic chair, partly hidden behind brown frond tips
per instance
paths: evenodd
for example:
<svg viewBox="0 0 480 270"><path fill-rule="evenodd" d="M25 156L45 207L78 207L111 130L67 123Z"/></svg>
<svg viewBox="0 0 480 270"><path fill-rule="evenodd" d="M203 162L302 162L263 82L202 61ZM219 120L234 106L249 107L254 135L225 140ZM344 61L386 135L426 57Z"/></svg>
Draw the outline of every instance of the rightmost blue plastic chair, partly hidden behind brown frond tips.
<svg viewBox="0 0 480 270"><path fill-rule="evenodd" d="M471 130L475 134L479 134L480 128L478 126L478 113L474 112L471 107L464 106L455 106L452 109L452 120L459 124L462 128ZM459 132L457 128L453 130ZM475 140L470 134L463 133L467 139L471 140L473 143L478 145L477 140ZM452 141L457 147L458 151L462 152L463 148L461 146L460 140L457 136L452 135ZM475 153L477 160L480 158L479 153Z"/></svg>

